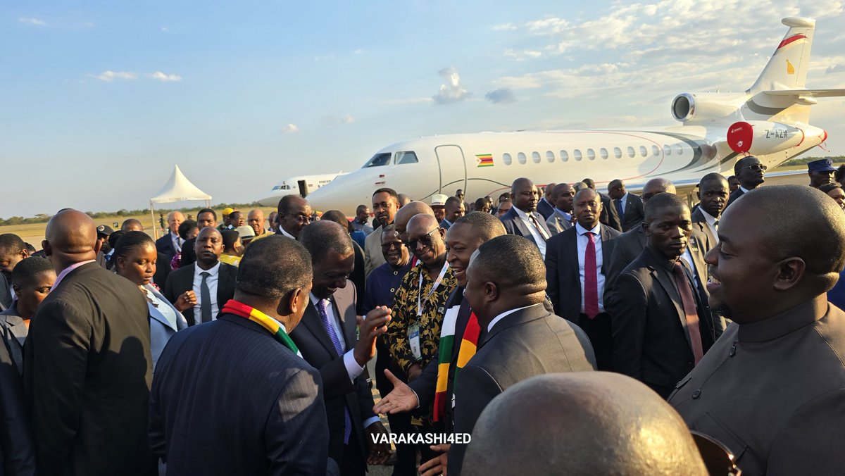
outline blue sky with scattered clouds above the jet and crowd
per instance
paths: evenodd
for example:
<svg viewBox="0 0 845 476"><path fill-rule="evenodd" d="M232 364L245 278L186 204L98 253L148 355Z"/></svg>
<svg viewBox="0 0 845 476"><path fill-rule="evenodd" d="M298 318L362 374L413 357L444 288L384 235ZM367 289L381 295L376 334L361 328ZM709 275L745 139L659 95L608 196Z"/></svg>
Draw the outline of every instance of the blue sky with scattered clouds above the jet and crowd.
<svg viewBox="0 0 845 476"><path fill-rule="evenodd" d="M750 86L791 15L818 18L808 87L845 86L842 3L798 5L4 2L0 216L144 208L174 164L248 202L421 135L670 125L680 92Z"/></svg>

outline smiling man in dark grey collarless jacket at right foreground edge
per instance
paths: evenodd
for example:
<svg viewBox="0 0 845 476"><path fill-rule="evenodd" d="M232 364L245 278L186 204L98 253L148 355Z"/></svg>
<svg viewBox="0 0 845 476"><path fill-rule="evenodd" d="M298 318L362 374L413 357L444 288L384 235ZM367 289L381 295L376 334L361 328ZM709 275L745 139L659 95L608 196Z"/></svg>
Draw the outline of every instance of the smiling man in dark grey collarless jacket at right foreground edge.
<svg viewBox="0 0 845 476"><path fill-rule="evenodd" d="M785 203L805 212L783 220ZM845 313L826 298L845 266L842 209L806 186L752 190L706 261L710 304L734 324L669 403L744 475L845 473Z"/></svg>

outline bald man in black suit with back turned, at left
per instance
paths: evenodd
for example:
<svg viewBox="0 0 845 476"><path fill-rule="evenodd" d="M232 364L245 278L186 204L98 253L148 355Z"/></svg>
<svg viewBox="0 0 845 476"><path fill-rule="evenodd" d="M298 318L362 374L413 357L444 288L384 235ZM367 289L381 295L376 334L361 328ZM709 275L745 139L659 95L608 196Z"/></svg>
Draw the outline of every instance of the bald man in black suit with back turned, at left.
<svg viewBox="0 0 845 476"><path fill-rule="evenodd" d="M146 438L152 380L146 299L96 264L90 216L61 211L45 235L57 280L24 345L38 471L155 471Z"/></svg>

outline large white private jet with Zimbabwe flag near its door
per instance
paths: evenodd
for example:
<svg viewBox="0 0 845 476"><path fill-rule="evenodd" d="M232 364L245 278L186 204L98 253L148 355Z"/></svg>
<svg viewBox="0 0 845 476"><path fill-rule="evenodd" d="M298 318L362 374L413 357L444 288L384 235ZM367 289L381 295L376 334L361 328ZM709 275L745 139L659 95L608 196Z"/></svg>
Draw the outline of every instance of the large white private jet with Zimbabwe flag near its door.
<svg viewBox="0 0 845 476"><path fill-rule="evenodd" d="M790 17L782 23L788 32L750 89L675 96L671 112L679 125L408 140L379 150L357 171L308 195L308 201L314 210L354 215L357 205L370 203L373 191L383 187L426 201L455 189L467 197L496 197L518 177L537 185L621 178L634 190L663 177L682 189L708 172L733 175L734 162L746 155L777 167L827 139L824 129L809 123L817 98L845 96L845 89L804 86L815 19Z"/></svg>

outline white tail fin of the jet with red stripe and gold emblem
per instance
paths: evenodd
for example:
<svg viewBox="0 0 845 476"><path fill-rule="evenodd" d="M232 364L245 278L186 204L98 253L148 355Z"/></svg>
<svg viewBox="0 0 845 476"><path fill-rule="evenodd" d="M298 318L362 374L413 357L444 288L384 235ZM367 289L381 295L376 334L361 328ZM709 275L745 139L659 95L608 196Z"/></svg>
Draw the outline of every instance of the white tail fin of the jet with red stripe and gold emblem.
<svg viewBox="0 0 845 476"><path fill-rule="evenodd" d="M751 86L749 92L752 95L778 90L797 90L803 88L806 82L815 19L789 17L781 22L787 25L789 30L783 41L777 45L760 77Z"/></svg>

